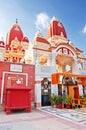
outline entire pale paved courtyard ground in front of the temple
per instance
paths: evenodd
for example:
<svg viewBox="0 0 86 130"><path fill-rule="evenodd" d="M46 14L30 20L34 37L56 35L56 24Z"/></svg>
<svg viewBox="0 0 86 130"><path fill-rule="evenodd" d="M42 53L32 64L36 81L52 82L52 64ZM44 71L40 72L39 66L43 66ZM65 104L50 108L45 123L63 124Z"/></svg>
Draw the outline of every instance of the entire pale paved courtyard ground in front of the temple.
<svg viewBox="0 0 86 130"><path fill-rule="evenodd" d="M86 130L86 112L42 107L6 115L0 110L0 130Z"/></svg>

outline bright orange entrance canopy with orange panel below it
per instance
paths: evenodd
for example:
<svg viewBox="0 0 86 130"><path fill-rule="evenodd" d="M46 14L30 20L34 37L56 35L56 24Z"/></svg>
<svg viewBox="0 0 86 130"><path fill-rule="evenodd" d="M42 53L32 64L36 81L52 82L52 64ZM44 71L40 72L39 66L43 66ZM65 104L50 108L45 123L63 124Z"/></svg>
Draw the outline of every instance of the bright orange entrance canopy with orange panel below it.
<svg viewBox="0 0 86 130"><path fill-rule="evenodd" d="M80 98L79 86L86 85L86 75L54 73L52 74L52 84L61 84L63 89L67 88L67 94L72 98Z"/></svg>

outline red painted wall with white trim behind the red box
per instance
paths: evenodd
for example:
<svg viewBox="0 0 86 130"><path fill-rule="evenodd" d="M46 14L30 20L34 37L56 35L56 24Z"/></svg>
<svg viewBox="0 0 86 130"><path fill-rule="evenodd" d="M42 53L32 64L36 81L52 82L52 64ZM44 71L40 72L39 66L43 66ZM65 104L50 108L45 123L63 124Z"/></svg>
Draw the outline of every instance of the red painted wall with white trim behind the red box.
<svg viewBox="0 0 86 130"><path fill-rule="evenodd" d="M20 65L22 67L22 72L19 72L18 70L16 70L16 71L11 70L11 65ZM23 75L22 75L22 73L23 73ZM16 80L18 78L23 79L23 82L21 82L21 85L25 86L26 85L26 75L24 75L24 74L28 75L28 87L32 87L31 98L32 98L32 101L34 101L35 66L28 65L28 64L20 64L20 63L11 63L11 62L0 61L0 97L1 97L2 86L4 86L4 95L5 95L5 88L13 87L16 84ZM8 77L11 77L11 79L8 80ZM4 80L4 83L3 83L3 80ZM2 85L2 84L4 84L4 85Z"/></svg>

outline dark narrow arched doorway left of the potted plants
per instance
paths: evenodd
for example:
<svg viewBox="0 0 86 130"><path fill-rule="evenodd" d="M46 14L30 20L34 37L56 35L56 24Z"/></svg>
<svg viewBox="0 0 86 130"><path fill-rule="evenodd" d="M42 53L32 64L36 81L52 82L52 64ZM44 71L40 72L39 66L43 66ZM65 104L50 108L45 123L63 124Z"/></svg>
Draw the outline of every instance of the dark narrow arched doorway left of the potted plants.
<svg viewBox="0 0 86 130"><path fill-rule="evenodd" d="M51 95L51 82L44 78L41 81L41 106L49 106L50 105L50 98Z"/></svg>

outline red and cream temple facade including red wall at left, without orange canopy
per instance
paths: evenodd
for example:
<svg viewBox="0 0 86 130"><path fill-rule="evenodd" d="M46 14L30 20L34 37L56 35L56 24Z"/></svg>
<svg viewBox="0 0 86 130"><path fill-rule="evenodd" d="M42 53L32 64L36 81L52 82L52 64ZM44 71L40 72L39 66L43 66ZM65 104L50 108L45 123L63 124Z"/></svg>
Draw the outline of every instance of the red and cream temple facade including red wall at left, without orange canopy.
<svg viewBox="0 0 86 130"><path fill-rule="evenodd" d="M67 73L68 80L75 82L77 79L71 79L70 74L86 75L86 58L83 51L68 40L63 24L56 17L50 21L46 38L38 31L32 42L16 21L7 33L6 43L0 40L0 73L1 104L4 88L20 78L20 83L23 80L33 87L33 104L41 107L49 105L51 93L60 94L63 89L68 93L68 86L62 82L65 76L60 76L59 84L53 84L52 74ZM79 95L86 94L85 84L79 86Z"/></svg>

